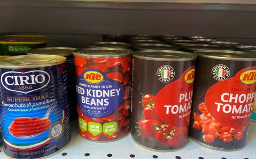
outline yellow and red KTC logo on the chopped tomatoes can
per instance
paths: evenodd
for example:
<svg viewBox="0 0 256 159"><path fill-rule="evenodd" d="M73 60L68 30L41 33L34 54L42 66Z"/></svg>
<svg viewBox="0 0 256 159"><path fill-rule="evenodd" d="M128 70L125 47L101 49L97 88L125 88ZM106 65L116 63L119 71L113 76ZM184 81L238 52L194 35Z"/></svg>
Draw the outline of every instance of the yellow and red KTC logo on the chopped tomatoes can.
<svg viewBox="0 0 256 159"><path fill-rule="evenodd" d="M252 85L256 82L256 69L243 72L240 75L240 81L245 85Z"/></svg>

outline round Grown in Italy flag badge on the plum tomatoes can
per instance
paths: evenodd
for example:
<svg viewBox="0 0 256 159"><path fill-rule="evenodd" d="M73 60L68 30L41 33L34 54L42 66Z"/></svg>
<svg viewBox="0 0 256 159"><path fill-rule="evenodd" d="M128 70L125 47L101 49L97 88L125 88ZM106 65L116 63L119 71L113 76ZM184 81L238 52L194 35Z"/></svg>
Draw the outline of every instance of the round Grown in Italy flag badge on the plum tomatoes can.
<svg viewBox="0 0 256 159"><path fill-rule="evenodd" d="M156 75L158 80L167 83L174 78L175 72L170 65L162 65L157 69Z"/></svg>

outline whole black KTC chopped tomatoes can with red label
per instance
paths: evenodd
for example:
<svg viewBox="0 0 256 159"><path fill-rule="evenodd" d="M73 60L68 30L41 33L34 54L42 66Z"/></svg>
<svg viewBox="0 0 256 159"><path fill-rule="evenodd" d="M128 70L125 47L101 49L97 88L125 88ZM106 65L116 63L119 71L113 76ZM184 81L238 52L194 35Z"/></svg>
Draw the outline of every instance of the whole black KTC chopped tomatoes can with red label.
<svg viewBox="0 0 256 159"><path fill-rule="evenodd" d="M256 55L196 51L190 137L216 150L245 145L256 99Z"/></svg>

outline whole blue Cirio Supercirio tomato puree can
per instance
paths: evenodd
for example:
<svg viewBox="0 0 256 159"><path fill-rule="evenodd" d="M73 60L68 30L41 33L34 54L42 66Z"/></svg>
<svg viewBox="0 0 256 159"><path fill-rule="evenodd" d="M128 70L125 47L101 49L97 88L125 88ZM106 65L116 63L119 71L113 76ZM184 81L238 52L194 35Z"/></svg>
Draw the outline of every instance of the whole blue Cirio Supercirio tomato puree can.
<svg viewBox="0 0 256 159"><path fill-rule="evenodd" d="M51 156L70 141L65 61L54 55L0 59L0 119L8 157Z"/></svg>

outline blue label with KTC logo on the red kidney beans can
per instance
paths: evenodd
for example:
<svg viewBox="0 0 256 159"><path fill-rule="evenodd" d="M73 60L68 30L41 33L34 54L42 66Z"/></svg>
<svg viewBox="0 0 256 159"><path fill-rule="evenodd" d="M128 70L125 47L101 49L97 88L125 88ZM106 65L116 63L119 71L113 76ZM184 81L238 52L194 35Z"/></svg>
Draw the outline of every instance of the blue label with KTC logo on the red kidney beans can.
<svg viewBox="0 0 256 159"><path fill-rule="evenodd" d="M121 106L124 89L105 73L87 69L77 79L77 99L84 115L92 118L110 116Z"/></svg>

